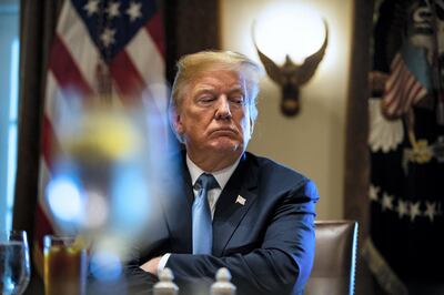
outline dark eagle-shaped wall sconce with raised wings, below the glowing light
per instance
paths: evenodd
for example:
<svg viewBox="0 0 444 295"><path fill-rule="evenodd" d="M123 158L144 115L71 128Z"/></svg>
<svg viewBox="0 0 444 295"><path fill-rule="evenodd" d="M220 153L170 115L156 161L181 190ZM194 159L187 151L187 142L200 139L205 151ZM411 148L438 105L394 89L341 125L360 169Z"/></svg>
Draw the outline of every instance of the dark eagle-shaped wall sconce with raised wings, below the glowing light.
<svg viewBox="0 0 444 295"><path fill-rule="evenodd" d="M279 67L259 49L254 37L255 23L253 23L252 34L254 47L265 68L266 74L282 88L281 111L287 116L293 116L299 113L299 89L310 81L321 60L324 58L325 49L329 43L329 27L325 20L323 20L323 23L325 28L325 38L321 48L313 54L306 57L302 64L294 63L290 55L286 54L285 62L282 67Z"/></svg>

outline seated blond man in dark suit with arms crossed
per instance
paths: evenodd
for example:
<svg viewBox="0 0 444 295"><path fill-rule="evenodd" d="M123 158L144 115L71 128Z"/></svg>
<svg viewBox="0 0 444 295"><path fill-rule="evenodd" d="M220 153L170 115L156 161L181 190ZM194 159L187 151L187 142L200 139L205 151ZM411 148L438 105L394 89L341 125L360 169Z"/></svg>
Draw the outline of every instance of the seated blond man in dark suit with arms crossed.
<svg viewBox="0 0 444 295"><path fill-rule="evenodd" d="M309 179L245 152L260 68L239 53L205 51L182 58L178 69L171 122L185 148L179 193L162 200L150 244L127 268L130 285L144 281L148 289L169 267L181 293L198 294L226 267L240 295L302 293L319 196Z"/></svg>

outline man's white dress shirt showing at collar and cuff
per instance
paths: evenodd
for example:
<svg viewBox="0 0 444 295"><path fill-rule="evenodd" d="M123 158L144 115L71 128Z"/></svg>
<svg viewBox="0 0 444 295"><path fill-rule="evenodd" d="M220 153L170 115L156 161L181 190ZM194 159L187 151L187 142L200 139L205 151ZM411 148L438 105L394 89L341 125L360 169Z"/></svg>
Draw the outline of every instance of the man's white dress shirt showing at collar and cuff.
<svg viewBox="0 0 444 295"><path fill-rule="evenodd" d="M238 161L234 162L234 164L222 169L216 172L205 172L202 169L200 169L196 164L191 161L191 159L186 154L186 166L190 172L191 176L191 183L193 184L193 192L194 192L194 197L198 195L199 191L194 189L194 184L198 181L199 176L202 175L202 173L209 173L214 176L214 179L218 181L218 184L220 187L218 189L212 189L208 192L208 199L209 199L209 204L210 204L210 210L211 210L211 220L213 220L214 216L214 211L215 211L215 204L218 203L219 196L221 196L223 187L225 187L226 183L229 182L231 175L233 174L234 170L238 167L239 162L241 159L239 157ZM162 258L159 262L158 265L158 274L163 271L165 267L165 264L168 262L168 258L170 257L171 253L167 253L162 256Z"/></svg>

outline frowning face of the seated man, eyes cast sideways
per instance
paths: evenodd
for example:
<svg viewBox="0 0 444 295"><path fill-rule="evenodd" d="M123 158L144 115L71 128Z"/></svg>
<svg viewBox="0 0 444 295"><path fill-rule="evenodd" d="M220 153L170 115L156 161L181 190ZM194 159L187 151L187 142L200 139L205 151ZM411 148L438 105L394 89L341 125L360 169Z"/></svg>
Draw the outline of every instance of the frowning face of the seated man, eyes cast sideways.
<svg viewBox="0 0 444 295"><path fill-rule="evenodd" d="M241 74L215 68L200 74L182 93L175 129L190 157L218 159L223 153L234 162L246 149L253 126Z"/></svg>

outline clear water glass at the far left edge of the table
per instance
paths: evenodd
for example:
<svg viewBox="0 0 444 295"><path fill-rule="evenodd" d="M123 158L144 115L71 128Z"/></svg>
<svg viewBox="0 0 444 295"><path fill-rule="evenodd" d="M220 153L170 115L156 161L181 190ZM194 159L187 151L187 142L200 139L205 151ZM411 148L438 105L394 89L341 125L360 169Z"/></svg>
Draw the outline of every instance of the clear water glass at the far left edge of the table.
<svg viewBox="0 0 444 295"><path fill-rule="evenodd" d="M0 232L0 275L1 294L24 293L31 279L27 232Z"/></svg>

